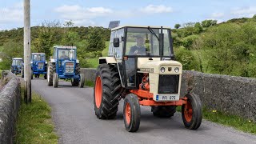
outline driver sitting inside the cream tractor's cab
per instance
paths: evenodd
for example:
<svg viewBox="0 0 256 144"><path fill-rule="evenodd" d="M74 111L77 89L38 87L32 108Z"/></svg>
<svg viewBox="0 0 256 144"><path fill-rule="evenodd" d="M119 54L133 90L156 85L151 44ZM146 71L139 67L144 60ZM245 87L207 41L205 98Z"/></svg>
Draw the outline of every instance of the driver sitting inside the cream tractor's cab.
<svg viewBox="0 0 256 144"><path fill-rule="evenodd" d="M136 46L130 47L130 55L146 55L146 47L144 46L144 38L142 36L136 37Z"/></svg>

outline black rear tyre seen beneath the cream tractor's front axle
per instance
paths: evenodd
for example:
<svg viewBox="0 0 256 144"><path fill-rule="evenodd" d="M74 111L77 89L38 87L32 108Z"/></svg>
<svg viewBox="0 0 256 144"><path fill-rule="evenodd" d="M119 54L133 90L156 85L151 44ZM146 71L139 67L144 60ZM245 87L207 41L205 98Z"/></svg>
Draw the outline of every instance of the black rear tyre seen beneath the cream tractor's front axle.
<svg viewBox="0 0 256 144"><path fill-rule="evenodd" d="M155 117L170 118L176 112L176 106L152 106L151 111Z"/></svg>

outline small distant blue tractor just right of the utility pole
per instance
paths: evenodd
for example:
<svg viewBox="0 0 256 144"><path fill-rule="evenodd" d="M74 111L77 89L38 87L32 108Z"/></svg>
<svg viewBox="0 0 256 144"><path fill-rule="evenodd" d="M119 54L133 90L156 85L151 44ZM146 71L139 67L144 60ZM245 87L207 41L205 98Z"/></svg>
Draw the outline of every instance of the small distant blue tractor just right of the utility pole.
<svg viewBox="0 0 256 144"><path fill-rule="evenodd" d="M35 78L39 78L40 74L44 74L44 78L47 78L47 62L45 53L32 53L30 64L31 79L33 79L33 75Z"/></svg>

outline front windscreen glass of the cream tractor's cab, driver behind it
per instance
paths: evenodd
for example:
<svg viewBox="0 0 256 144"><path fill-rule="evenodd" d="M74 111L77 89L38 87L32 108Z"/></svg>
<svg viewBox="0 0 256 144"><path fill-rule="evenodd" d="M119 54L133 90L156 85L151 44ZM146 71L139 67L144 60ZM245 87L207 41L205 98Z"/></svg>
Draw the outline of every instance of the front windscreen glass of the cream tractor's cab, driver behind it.
<svg viewBox="0 0 256 144"><path fill-rule="evenodd" d="M153 31L150 31L153 30ZM159 34L161 29L128 28L126 38L126 55L131 56L160 56ZM170 33L163 29L163 56L170 56Z"/></svg>

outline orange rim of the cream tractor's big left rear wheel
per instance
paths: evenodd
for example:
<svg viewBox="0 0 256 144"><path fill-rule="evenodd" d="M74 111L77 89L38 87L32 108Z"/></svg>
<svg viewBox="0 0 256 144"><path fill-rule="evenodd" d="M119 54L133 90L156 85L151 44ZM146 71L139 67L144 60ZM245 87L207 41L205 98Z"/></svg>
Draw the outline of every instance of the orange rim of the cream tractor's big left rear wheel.
<svg viewBox="0 0 256 144"><path fill-rule="evenodd" d="M102 103L102 79L100 77L96 79L95 83L95 103L98 108Z"/></svg>

